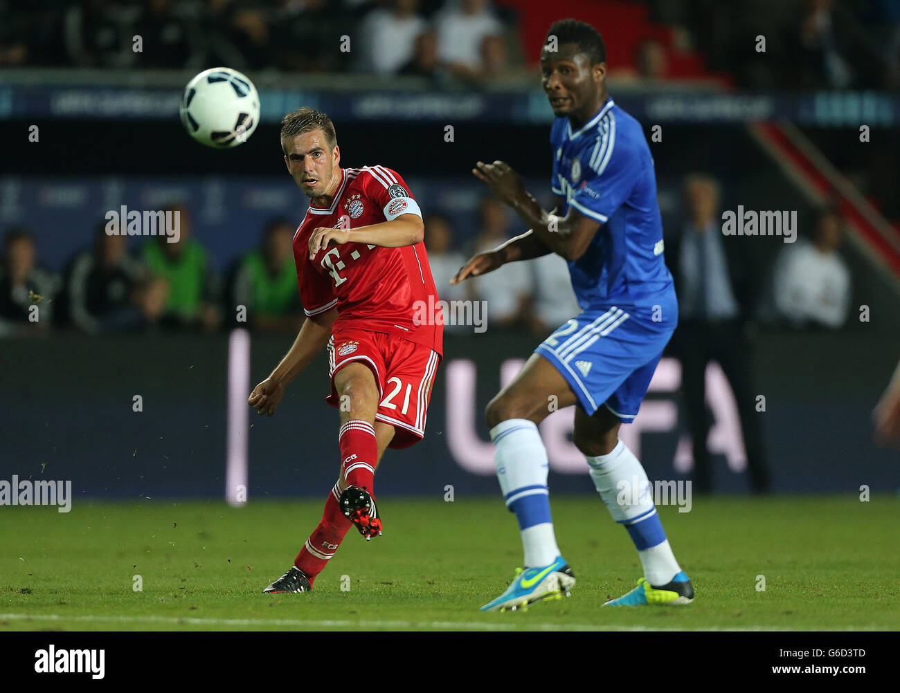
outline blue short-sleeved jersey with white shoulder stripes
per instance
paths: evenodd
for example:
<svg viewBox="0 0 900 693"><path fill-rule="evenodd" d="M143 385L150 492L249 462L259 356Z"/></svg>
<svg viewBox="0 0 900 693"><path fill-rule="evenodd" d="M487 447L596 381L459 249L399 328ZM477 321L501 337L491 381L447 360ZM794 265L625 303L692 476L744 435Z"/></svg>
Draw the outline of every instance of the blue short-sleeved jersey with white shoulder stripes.
<svg viewBox="0 0 900 693"><path fill-rule="evenodd" d="M662 258L662 219L653 157L640 123L608 99L577 132L554 120L552 188L570 207L602 225L578 260L572 289L584 308L645 307L674 296Z"/></svg>

